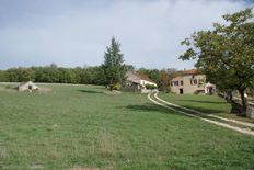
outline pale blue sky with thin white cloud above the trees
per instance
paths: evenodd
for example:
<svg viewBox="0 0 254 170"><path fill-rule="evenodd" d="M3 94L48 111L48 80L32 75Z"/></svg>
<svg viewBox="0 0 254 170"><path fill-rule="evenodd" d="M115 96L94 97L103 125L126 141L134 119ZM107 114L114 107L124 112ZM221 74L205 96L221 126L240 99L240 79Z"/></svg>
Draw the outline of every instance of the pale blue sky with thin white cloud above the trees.
<svg viewBox="0 0 254 170"><path fill-rule="evenodd" d="M115 36L136 68L190 69L181 42L251 0L0 0L0 69L97 66Z"/></svg>

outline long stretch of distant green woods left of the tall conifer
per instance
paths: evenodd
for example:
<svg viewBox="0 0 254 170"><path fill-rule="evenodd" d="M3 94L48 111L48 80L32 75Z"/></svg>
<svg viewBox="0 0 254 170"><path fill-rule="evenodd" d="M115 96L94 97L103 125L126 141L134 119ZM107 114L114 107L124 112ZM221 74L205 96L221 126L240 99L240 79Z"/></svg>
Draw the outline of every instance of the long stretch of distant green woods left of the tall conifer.
<svg viewBox="0 0 254 170"><path fill-rule="evenodd" d="M2 82L48 82L48 83L83 83L104 84L102 67L64 68L51 64L45 67L19 67L0 71Z"/></svg>

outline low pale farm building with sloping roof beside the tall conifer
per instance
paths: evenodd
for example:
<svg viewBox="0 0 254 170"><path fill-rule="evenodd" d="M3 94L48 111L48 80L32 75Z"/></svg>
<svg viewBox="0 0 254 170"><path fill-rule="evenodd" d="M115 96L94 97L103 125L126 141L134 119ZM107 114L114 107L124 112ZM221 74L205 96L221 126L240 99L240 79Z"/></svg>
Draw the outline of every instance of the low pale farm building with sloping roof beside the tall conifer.
<svg viewBox="0 0 254 170"><path fill-rule="evenodd" d="M130 70L126 73L126 82L124 86L125 91L140 91L142 93L147 93L150 89L147 89L146 86L150 84L153 87L158 87L154 81L152 81L146 75L140 75L134 70Z"/></svg>

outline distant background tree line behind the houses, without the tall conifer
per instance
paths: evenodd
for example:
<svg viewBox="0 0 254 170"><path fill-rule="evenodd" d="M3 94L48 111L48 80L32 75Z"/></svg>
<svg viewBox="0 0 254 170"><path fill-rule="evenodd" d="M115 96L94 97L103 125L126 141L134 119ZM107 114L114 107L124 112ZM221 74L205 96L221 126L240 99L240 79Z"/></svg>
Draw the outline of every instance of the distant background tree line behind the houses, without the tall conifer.
<svg viewBox="0 0 254 170"><path fill-rule="evenodd" d="M135 70L131 65L125 65L126 70ZM146 75L162 91L169 90L170 81L177 72L176 69L147 69L139 68L136 71ZM7 70L0 70L0 82L46 82L46 83L80 83L80 84L100 84L106 86L106 78L103 66L89 66L65 68L56 64L49 66L18 67ZM118 81L118 80L117 80Z"/></svg>

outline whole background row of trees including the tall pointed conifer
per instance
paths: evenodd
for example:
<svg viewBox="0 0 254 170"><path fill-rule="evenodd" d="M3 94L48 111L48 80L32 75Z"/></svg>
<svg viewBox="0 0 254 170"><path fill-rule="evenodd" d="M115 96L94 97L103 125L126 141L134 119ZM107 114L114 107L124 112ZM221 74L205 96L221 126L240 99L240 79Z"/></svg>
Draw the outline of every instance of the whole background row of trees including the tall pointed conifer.
<svg viewBox="0 0 254 170"><path fill-rule="evenodd" d="M0 70L0 82L46 82L46 83L80 83L107 86L111 90L116 84L123 84L128 70L135 70L132 65L124 64L124 54L120 53L120 43L113 38L106 47L104 63L100 66L65 68L56 64L44 67L18 67ZM177 72L174 68L168 69L136 69L153 80L159 90L170 91L170 81Z"/></svg>

